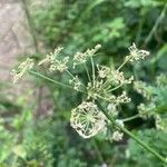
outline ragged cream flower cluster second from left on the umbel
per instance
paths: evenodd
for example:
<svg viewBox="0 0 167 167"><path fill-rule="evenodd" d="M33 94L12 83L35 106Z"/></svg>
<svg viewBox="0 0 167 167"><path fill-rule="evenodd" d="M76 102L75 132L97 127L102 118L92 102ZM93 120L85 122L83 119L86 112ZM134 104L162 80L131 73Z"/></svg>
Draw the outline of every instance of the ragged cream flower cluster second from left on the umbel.
<svg viewBox="0 0 167 167"><path fill-rule="evenodd" d="M60 51L63 48L57 48L55 50L55 52L50 52L49 55L47 55L47 57L45 59L42 59L38 65L42 65L42 63L49 63L49 70L50 71L65 71L68 67L67 67L67 62L69 60L69 57L63 58L62 60L59 60L57 58L57 56L60 53Z"/></svg>

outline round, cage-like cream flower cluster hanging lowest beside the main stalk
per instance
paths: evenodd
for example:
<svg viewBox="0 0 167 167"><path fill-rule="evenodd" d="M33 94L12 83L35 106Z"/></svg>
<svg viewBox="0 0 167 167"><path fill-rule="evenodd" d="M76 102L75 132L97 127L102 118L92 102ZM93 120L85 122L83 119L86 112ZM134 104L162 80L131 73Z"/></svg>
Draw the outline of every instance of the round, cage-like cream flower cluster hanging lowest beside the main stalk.
<svg viewBox="0 0 167 167"><path fill-rule="evenodd" d="M105 115L94 102L84 101L72 109L70 124L71 127L84 138L90 138L98 134L106 125Z"/></svg>

